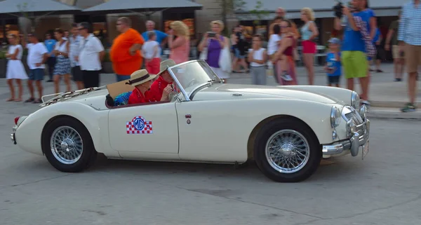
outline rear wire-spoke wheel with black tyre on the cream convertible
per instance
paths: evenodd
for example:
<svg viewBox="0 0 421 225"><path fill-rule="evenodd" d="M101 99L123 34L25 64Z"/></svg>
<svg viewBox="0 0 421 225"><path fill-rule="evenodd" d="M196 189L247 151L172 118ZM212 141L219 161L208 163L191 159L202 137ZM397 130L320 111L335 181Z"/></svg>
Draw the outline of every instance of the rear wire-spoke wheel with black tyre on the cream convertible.
<svg viewBox="0 0 421 225"><path fill-rule="evenodd" d="M62 172L80 172L97 152L85 126L74 118L57 118L44 130L42 146L48 162Z"/></svg>

